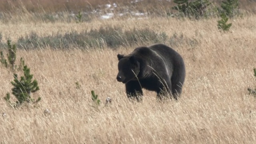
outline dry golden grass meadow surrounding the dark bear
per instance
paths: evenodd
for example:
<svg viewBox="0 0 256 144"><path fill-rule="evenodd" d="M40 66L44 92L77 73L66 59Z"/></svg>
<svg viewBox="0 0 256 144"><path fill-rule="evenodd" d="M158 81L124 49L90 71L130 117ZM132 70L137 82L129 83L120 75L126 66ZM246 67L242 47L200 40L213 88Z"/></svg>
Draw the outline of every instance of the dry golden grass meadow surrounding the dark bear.
<svg viewBox="0 0 256 144"><path fill-rule="evenodd" d="M142 18L92 16L89 21L76 22L64 16L48 22L36 17L39 12L17 9L10 17L10 11L3 11L0 50L8 53L8 39L17 44L17 64L23 57L40 87L32 97L42 100L36 105L11 108L3 97L11 93L12 72L0 65L0 112L5 113L0 116L0 143L255 143L256 99L247 88L256 88L256 15L247 7L253 6L243 5L244 14L229 20L232 26L228 32L218 30L217 17L189 20L148 14ZM112 34L99 40L86 37L87 33L84 37L75 35L109 27L122 28L118 31L120 42L112 41L115 36L107 39ZM140 30L145 28L148 33L142 38ZM136 40L128 39L129 31L137 32ZM36 33L34 40L41 43L28 44L26 39L32 32ZM63 38L67 33L68 38L91 39L86 44L71 44ZM158 37L151 36L154 34ZM57 45L47 45L46 40ZM186 80L178 102L157 102L156 93L148 90L143 90L142 102L130 101L124 84L116 80L118 53L128 54L137 46L155 42L171 46L184 58ZM19 77L21 74L18 72ZM91 90L102 101L99 106L92 103ZM112 103L105 106L108 97ZM50 110L48 116L45 109Z"/></svg>

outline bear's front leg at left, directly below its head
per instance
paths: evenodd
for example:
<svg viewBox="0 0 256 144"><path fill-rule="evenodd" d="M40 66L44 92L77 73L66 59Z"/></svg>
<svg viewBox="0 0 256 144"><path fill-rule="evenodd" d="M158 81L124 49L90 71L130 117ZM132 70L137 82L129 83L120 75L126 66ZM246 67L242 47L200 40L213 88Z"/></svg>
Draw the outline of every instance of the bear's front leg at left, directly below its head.
<svg viewBox="0 0 256 144"><path fill-rule="evenodd" d="M126 94L128 98L136 98L138 101L142 99L142 87L138 81L130 81L125 84Z"/></svg>

